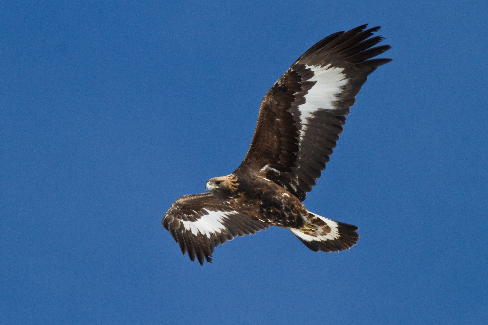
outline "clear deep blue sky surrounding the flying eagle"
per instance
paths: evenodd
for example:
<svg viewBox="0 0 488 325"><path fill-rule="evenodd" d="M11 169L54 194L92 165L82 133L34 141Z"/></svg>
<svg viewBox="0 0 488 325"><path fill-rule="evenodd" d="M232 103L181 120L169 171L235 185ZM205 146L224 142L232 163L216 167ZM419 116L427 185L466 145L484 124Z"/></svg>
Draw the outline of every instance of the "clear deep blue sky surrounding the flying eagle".
<svg viewBox="0 0 488 325"><path fill-rule="evenodd" d="M0 324L488 324L486 1L2 1ZM382 57L286 229L182 256L161 219L232 172L259 104L319 39Z"/></svg>

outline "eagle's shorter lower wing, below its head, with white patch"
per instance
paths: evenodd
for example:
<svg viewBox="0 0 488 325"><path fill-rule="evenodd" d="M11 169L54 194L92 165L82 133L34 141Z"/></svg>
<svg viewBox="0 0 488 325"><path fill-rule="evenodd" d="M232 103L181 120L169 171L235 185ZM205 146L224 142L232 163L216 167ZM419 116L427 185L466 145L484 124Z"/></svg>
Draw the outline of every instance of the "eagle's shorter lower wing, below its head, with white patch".
<svg viewBox="0 0 488 325"><path fill-rule="evenodd" d="M164 214L161 224L171 232L183 255L203 265L212 262L216 246L236 236L256 233L269 226L245 212L232 210L210 193L184 195Z"/></svg>

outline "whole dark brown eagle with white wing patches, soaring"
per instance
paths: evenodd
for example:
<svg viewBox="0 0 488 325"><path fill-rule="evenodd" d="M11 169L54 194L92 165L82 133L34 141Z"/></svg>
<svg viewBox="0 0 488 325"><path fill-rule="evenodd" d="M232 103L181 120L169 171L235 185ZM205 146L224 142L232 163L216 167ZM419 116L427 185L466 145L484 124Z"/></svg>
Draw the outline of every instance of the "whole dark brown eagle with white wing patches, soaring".
<svg viewBox="0 0 488 325"><path fill-rule="evenodd" d="M236 236L269 226L290 229L313 251L356 244L356 226L305 209L302 201L325 169L346 124L345 115L366 77L391 59L375 46L379 26L337 32L308 49L266 93L241 165L206 182L206 193L184 195L162 225L190 260L212 261L212 252Z"/></svg>

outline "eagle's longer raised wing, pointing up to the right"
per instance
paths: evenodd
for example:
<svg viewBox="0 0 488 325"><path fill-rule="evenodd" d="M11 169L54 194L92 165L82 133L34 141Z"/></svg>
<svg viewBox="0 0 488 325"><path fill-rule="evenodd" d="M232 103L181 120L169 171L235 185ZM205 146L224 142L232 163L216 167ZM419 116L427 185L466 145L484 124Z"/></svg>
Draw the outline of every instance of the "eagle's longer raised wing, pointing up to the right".
<svg viewBox="0 0 488 325"><path fill-rule="evenodd" d="M372 46L380 27L366 25L334 33L306 51L266 93L249 150L235 171L261 173L301 201L325 169L344 115L366 77L391 59L390 48Z"/></svg>

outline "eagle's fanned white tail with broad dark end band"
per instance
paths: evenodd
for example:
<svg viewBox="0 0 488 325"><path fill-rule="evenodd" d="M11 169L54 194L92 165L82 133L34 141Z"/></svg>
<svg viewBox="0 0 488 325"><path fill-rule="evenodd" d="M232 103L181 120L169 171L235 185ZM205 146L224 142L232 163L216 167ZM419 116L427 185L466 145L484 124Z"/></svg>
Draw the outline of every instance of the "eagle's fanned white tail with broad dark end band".
<svg viewBox="0 0 488 325"><path fill-rule="evenodd" d="M358 227L324 218L309 212L303 229L290 228L295 236L313 251L350 249L359 239Z"/></svg>

